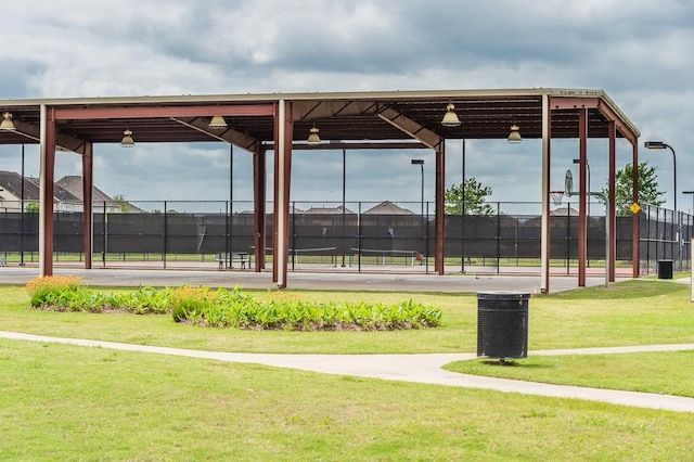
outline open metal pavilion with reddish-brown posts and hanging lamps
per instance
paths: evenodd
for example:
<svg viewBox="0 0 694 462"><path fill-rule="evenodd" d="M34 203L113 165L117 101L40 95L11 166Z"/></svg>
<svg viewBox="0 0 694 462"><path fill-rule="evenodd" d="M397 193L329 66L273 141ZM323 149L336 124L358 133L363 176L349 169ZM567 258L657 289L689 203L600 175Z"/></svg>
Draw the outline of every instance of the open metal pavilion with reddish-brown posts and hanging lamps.
<svg viewBox="0 0 694 462"><path fill-rule="evenodd" d="M452 105L452 107L451 107ZM454 112L460 124L442 125ZM267 152L273 153L272 281L287 286L290 182L296 149L411 149L435 152L435 271L444 273L444 192L447 139L506 139L513 125L525 139L541 139L542 292L549 292L551 140L579 141L579 286L586 285L587 141L608 140L609 280L614 281L616 140L632 146L638 165L638 129L602 90L509 89L382 92L268 93L182 97L0 100L0 144L40 144L41 275L53 273L53 181L56 150L82 158L85 217L92 216L92 166L97 146L120 143L126 130L137 143L222 141L253 155L256 271L265 269ZM9 114L9 115L8 115ZM450 114L449 114L450 115ZM213 124L213 118L215 119ZM453 117L455 118L455 117ZM5 123L5 120L10 120ZM318 129L318 130L317 130ZM311 132L319 144L307 144ZM638 202L634 169L633 202ZM85 268L91 269L92 222L83 222ZM632 227L633 277L639 275L638 218Z"/></svg>

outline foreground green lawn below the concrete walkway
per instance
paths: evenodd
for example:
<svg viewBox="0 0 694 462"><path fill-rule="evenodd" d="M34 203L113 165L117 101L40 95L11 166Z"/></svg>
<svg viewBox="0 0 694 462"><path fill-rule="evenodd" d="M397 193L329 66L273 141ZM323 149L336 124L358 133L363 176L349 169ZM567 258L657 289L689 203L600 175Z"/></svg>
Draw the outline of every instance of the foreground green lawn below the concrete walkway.
<svg viewBox="0 0 694 462"><path fill-rule="evenodd" d="M0 341L1 460L686 460L694 415Z"/></svg>

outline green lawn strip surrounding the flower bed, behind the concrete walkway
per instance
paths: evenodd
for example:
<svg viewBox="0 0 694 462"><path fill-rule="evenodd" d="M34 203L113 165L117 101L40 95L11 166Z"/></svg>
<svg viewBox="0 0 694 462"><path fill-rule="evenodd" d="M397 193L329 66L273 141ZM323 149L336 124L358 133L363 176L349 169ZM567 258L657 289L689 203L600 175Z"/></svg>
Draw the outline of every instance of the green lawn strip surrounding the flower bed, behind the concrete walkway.
<svg viewBox="0 0 694 462"><path fill-rule="evenodd" d="M113 291L113 288L104 288ZM274 296L258 291L257 297ZM26 309L21 286L0 286L2 330L39 335L243 352L471 352L477 345L475 294L283 292L283 297L397 303L412 297L444 311L444 326L395 332L258 332L192 329L165 316L57 313ZM690 288L663 280L629 281L529 300L529 349L694 342Z"/></svg>

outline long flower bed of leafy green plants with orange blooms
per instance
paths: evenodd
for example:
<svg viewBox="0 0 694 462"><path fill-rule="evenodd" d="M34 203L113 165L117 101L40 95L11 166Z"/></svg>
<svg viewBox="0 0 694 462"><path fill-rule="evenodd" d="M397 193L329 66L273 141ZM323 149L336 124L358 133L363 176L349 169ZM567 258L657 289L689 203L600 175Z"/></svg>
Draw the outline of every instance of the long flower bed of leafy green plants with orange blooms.
<svg viewBox="0 0 694 462"><path fill-rule="evenodd" d="M140 287L105 294L75 277L44 277L30 281L31 307L57 311L121 311L170 313L174 321L207 328L290 331L390 331L441 324L441 310L408 299L395 305L320 303L293 299L278 292L260 300L240 287Z"/></svg>

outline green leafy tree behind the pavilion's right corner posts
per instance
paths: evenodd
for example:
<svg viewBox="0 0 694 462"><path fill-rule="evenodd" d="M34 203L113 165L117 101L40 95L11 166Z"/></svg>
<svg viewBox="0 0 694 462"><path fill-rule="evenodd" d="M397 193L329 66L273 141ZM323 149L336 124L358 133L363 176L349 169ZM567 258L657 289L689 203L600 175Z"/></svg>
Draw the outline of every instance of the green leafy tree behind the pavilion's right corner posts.
<svg viewBox="0 0 694 462"><path fill-rule="evenodd" d="M631 216L631 196L633 192L633 166L627 164L625 168L618 170L615 175L615 209L620 217ZM607 195L607 188L601 191ZM656 167L652 167L647 162L639 164L639 203L659 206L665 201L663 196L665 192L658 191L658 177ZM603 198L597 196L597 201L605 203Z"/></svg>

